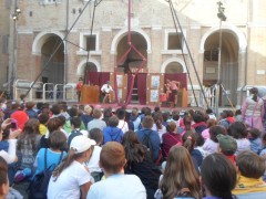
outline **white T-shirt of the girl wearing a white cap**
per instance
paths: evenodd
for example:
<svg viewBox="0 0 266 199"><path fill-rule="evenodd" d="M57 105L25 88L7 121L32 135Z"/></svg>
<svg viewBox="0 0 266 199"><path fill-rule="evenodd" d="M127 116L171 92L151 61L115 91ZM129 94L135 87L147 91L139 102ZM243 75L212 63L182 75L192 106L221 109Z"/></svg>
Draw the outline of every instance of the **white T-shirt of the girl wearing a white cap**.
<svg viewBox="0 0 266 199"><path fill-rule="evenodd" d="M74 160L61 172L57 181L54 181L54 177L51 177L47 197L48 199L80 198L80 186L89 181L90 174L85 167Z"/></svg>

